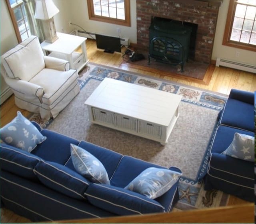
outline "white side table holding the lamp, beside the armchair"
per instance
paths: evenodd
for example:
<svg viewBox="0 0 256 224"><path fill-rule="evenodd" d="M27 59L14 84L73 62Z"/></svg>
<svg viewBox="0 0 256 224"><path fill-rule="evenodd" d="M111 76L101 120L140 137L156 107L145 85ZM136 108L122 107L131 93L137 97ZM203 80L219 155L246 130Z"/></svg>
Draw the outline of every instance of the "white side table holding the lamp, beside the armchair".
<svg viewBox="0 0 256 224"><path fill-rule="evenodd" d="M87 38L58 32L57 36L58 39L53 43L46 41L41 43L44 55L46 55L46 51L50 51L48 56L68 60L70 68L79 72L89 62L85 44ZM82 53L76 51L80 46Z"/></svg>

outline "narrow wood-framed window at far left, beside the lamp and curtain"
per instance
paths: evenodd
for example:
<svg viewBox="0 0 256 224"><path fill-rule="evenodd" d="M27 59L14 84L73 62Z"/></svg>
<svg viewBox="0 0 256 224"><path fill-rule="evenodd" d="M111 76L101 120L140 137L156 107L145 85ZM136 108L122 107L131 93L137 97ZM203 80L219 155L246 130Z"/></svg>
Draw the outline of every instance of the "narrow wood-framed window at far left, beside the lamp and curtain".
<svg viewBox="0 0 256 224"><path fill-rule="evenodd" d="M23 0L6 0L18 42L24 41L31 33Z"/></svg>

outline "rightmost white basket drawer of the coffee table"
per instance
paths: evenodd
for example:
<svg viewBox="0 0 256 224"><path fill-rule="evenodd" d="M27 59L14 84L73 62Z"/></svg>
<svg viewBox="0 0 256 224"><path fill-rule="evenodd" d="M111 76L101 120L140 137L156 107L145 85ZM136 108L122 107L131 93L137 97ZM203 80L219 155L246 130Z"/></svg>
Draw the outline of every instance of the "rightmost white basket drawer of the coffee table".
<svg viewBox="0 0 256 224"><path fill-rule="evenodd" d="M138 122L138 132L141 134L147 134L156 138L161 138L161 130L162 128L160 125L141 120Z"/></svg>

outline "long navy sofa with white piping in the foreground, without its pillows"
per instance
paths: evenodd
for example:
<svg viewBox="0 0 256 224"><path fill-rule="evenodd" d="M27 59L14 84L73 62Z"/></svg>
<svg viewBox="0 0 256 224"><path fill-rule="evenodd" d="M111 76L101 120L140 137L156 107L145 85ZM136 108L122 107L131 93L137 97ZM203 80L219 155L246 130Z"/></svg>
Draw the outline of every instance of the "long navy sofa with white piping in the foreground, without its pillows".
<svg viewBox="0 0 256 224"><path fill-rule="evenodd" d="M1 144L1 206L16 214L34 222L146 214L169 212L178 201L178 181L155 199L124 189L148 167L162 167L32 124L47 139L31 153ZM111 185L92 183L76 172L70 143L101 161Z"/></svg>

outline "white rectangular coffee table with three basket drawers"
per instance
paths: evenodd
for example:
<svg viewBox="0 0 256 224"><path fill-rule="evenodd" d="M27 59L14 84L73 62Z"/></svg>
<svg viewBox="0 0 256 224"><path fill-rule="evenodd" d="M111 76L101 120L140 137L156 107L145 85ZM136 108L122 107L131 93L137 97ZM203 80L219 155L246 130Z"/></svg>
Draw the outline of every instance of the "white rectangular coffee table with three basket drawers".
<svg viewBox="0 0 256 224"><path fill-rule="evenodd" d="M105 78L85 101L89 120L165 145L182 96Z"/></svg>

